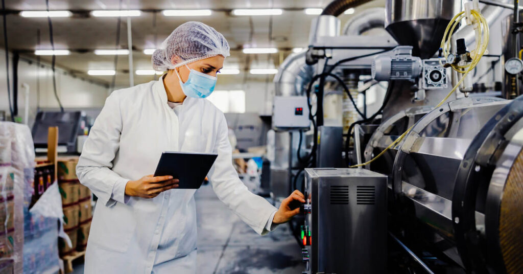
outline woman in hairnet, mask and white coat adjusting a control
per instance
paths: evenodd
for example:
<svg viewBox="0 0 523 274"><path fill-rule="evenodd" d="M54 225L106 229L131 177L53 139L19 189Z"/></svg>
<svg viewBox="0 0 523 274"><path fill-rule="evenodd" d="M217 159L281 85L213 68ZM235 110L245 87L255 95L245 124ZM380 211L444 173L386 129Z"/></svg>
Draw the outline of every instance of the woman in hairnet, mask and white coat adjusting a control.
<svg viewBox="0 0 523 274"><path fill-rule="evenodd" d="M195 190L153 177L163 151L215 152L208 177L218 198L258 234L298 214L249 192L231 157L225 116L204 100L228 57L229 44L199 22L176 28L152 57L151 81L113 92L85 142L76 172L98 196L85 273L195 273ZM144 176L145 175L145 176Z"/></svg>

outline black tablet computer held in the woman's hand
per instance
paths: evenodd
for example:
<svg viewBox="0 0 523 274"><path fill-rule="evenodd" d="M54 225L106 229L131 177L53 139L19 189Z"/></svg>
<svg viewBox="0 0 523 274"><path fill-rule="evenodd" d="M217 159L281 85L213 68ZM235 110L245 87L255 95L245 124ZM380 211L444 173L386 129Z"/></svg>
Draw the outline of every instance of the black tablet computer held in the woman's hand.
<svg viewBox="0 0 523 274"><path fill-rule="evenodd" d="M218 154L169 152L165 151L160 157L154 176L172 176L179 179L176 189L198 189Z"/></svg>

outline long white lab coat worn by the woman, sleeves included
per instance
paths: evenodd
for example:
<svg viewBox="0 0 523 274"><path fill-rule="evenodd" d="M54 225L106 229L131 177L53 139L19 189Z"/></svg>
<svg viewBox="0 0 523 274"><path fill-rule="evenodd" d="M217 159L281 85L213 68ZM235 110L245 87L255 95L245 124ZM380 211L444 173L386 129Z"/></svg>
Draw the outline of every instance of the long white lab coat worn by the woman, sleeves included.
<svg viewBox="0 0 523 274"><path fill-rule="evenodd" d="M98 196L86 274L196 272L195 190L124 195L127 181L154 173L163 151L217 152L208 174L214 192L258 234L267 233L277 209L238 178L223 113L187 97L178 117L160 79L113 92L85 142L76 172Z"/></svg>

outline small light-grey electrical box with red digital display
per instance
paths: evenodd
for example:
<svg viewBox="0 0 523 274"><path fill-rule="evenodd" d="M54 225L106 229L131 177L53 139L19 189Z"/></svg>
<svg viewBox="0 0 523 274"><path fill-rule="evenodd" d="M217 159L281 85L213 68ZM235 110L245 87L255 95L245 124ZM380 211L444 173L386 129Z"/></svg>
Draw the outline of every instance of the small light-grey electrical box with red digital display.
<svg viewBox="0 0 523 274"><path fill-rule="evenodd" d="M272 109L272 128L275 130L310 127L309 107L305 96L275 96Z"/></svg>

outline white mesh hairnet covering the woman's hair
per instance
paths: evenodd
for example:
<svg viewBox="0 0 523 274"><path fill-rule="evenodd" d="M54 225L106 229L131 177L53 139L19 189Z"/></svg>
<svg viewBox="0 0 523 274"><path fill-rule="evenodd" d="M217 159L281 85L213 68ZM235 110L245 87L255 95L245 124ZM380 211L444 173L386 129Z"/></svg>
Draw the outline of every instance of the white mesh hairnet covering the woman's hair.
<svg viewBox="0 0 523 274"><path fill-rule="evenodd" d="M171 32L160 48L154 51L151 62L155 70L166 71L218 54L230 56L229 43L225 37L206 24L189 21ZM172 63L171 58L175 55L181 61Z"/></svg>

